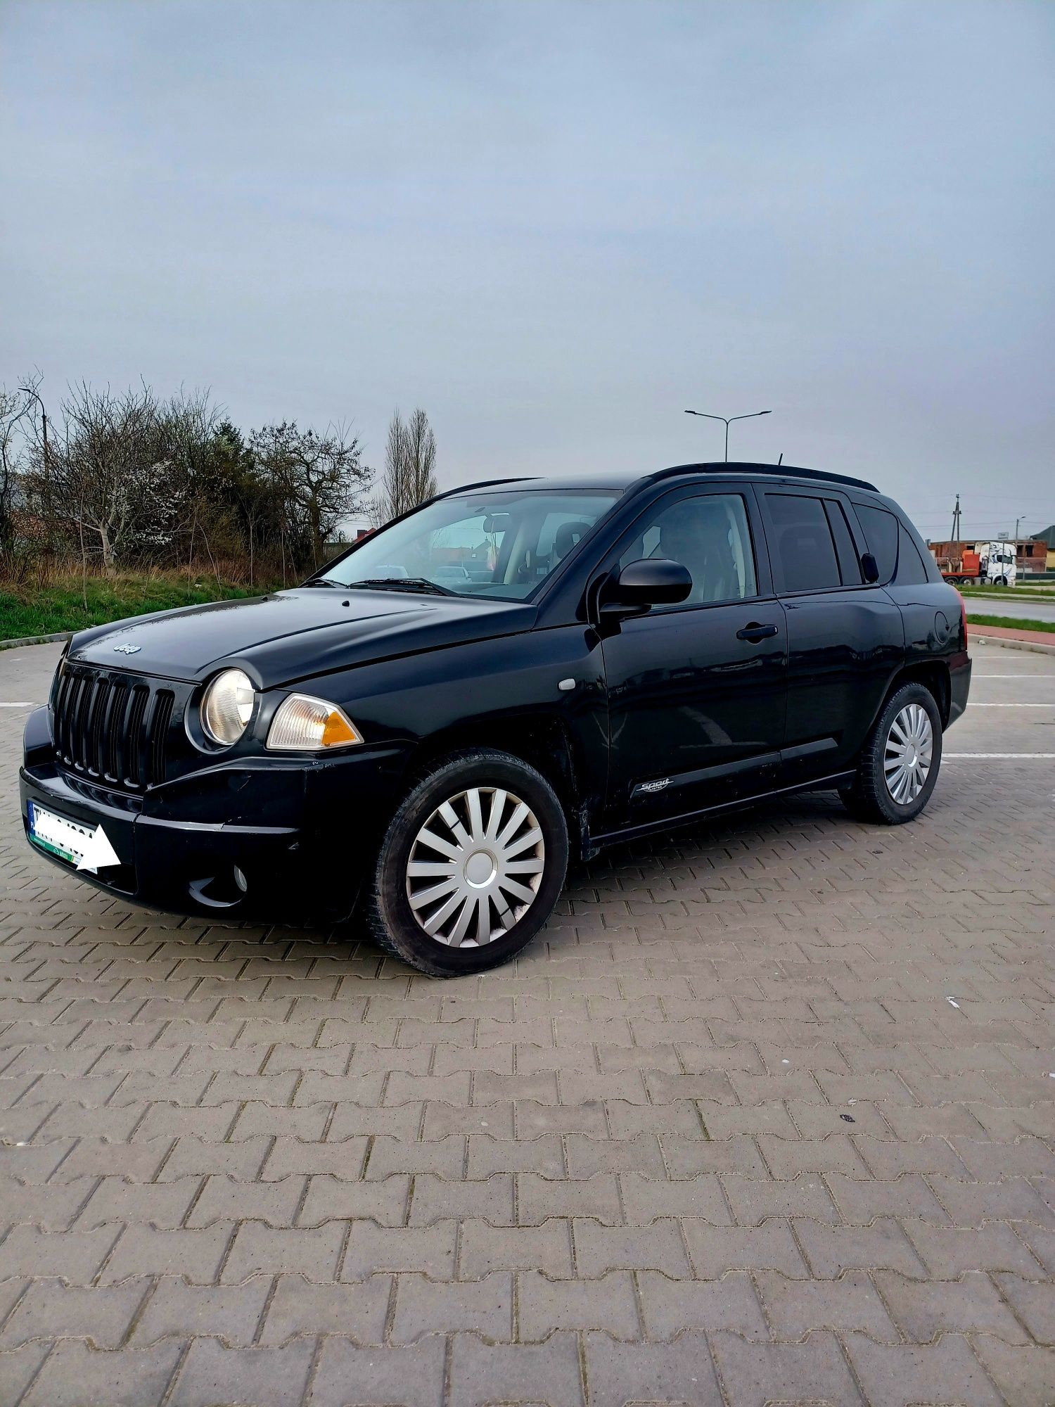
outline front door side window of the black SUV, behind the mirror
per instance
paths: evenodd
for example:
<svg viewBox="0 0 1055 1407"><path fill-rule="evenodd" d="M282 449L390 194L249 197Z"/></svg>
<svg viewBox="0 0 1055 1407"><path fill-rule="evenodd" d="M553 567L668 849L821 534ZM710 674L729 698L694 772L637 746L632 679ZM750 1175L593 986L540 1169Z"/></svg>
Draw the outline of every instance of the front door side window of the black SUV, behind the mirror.
<svg viewBox="0 0 1055 1407"><path fill-rule="evenodd" d="M679 561L692 577L685 605L744 601L758 595L747 509L740 494L678 498L646 515L619 566L641 557Z"/></svg>

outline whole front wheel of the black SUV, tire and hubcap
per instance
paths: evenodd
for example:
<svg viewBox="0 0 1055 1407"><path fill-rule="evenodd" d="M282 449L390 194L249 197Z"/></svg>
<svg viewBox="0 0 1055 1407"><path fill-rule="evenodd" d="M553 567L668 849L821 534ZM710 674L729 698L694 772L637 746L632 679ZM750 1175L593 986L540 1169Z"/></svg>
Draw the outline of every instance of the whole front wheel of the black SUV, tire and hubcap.
<svg viewBox="0 0 1055 1407"><path fill-rule="evenodd" d="M509 753L454 753L397 808L367 924L380 947L419 972L485 972L546 923L567 864L564 810L540 772Z"/></svg>

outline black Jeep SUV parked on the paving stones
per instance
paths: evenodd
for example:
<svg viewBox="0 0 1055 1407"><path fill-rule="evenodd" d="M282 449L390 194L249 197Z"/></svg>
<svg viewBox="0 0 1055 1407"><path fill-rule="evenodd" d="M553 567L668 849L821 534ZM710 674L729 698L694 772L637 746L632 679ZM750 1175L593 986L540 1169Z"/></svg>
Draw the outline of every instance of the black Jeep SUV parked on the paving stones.
<svg viewBox="0 0 1055 1407"><path fill-rule="evenodd" d="M923 810L957 591L871 484L764 464L440 494L302 587L83 630L27 836L110 893L333 923L436 975L518 953L568 855L760 798Z"/></svg>

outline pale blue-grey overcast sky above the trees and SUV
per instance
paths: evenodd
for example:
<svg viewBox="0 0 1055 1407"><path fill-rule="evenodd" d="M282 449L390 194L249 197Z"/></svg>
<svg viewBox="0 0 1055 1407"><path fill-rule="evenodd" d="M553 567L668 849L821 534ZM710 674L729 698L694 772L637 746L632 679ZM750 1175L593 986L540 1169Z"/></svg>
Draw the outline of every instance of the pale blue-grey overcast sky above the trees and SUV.
<svg viewBox="0 0 1055 1407"><path fill-rule="evenodd" d="M0 0L0 381L1055 519L1055 4Z"/></svg>

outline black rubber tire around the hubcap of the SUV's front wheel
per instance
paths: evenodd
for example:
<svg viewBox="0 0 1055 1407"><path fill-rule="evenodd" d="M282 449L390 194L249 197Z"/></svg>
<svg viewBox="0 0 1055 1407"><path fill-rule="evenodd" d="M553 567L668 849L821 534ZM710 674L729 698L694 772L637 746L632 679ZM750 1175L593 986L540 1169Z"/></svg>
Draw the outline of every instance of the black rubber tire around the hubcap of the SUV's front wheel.
<svg viewBox="0 0 1055 1407"><path fill-rule="evenodd" d="M535 898L526 903L511 927L480 946L454 947L426 933L415 916L408 893L408 885L412 881L408 878L407 867L411 862L415 844L422 846L421 832L426 827L426 822L432 825L437 808L457 799L457 810L461 798L475 788L480 789L480 794L491 794L491 805L495 805L495 794L501 789L529 808L536 822L530 827L530 833L537 829L542 834L542 841L536 841L535 850L542 847L543 853L539 858L543 868ZM511 809L504 815L512 820L515 808L508 799L505 805ZM471 822L467 825L471 826ZM522 834L516 833L516 839L522 839ZM428 843L425 846L425 853L429 854ZM418 848L416 854L421 855L422 850ZM436 868L439 868L445 864L445 857L439 851L433 854ZM447 862L456 865L454 861ZM556 792L539 771L511 753L491 751L490 749L452 753L435 761L428 771L421 774L395 809L381 841L373 885L366 902L367 930L378 947L430 976L467 976L474 972L485 972L515 957L546 923L560 898L567 867L568 826L564 810ZM456 868L460 875L466 875L467 865ZM523 877L519 877L518 882L522 879ZM440 877L440 886L445 882ZM428 882L421 881L421 884ZM512 915L515 910L505 903L506 898L506 895L499 893L498 903L505 905L506 913ZM498 903L484 903L482 910L495 920L497 929L502 927L505 922ZM421 912L426 915L428 922L435 917L440 908L443 908L443 902L436 900L432 913L428 909ZM456 912L453 922L457 920L460 912L460 909ZM475 919L470 920L470 927L474 922Z"/></svg>

